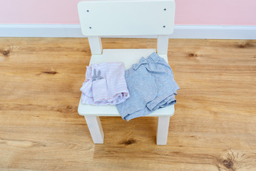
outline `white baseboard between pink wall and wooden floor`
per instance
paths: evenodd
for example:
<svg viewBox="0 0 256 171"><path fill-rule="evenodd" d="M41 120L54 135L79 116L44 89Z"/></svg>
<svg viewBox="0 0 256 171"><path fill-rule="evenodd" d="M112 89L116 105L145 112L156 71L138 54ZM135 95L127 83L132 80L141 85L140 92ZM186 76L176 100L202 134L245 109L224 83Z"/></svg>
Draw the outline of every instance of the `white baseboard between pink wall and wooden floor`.
<svg viewBox="0 0 256 171"><path fill-rule="evenodd" d="M0 37L86 37L79 24L0 24ZM155 38L156 36L108 36ZM170 38L256 39L256 26L175 25Z"/></svg>

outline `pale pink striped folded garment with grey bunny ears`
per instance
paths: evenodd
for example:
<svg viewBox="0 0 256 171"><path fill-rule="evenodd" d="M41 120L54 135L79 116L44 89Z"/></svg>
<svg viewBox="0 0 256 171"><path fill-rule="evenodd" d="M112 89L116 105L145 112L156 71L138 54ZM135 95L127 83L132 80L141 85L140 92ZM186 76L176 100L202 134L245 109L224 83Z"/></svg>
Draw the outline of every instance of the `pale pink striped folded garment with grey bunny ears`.
<svg viewBox="0 0 256 171"><path fill-rule="evenodd" d="M87 66L81 87L82 103L116 105L130 97L123 63L99 63Z"/></svg>

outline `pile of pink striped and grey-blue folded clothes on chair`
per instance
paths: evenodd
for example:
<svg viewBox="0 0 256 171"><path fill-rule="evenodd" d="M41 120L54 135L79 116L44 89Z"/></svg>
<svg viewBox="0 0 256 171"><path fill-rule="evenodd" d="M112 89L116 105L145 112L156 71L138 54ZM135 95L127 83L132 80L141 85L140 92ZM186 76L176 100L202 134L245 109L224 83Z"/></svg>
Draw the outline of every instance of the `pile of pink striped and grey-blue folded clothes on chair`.
<svg viewBox="0 0 256 171"><path fill-rule="evenodd" d="M168 63L154 52L127 71L123 63L91 65L81 91L82 103L116 105L128 121L173 105L179 89Z"/></svg>

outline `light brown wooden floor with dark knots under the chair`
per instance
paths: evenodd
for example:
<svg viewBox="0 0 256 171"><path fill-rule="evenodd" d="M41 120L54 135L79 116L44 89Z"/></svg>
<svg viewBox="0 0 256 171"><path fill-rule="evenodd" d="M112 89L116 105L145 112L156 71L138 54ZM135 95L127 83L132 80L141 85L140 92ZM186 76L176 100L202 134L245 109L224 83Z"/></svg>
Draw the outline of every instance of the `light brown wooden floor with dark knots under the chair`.
<svg viewBox="0 0 256 171"><path fill-rule="evenodd" d="M256 41L170 39L180 90L166 146L157 118L103 117L93 144L77 113L90 56L86 38L0 38L0 170L256 170Z"/></svg>

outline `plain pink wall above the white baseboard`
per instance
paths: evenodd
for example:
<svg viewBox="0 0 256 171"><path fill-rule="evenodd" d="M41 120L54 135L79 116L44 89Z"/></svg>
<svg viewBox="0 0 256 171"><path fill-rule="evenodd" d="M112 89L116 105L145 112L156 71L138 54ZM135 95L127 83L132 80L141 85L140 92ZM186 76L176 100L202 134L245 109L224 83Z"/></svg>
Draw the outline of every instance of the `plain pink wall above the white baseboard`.
<svg viewBox="0 0 256 171"><path fill-rule="evenodd" d="M78 24L79 0L0 0L0 24ZM255 0L176 0L175 24L256 25Z"/></svg>

